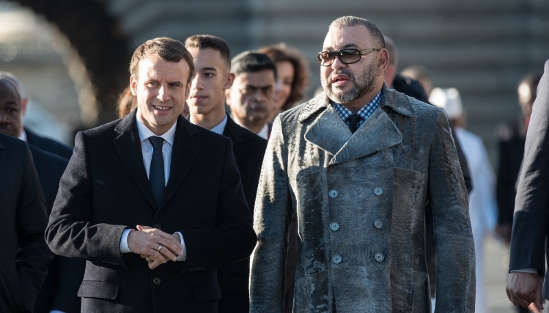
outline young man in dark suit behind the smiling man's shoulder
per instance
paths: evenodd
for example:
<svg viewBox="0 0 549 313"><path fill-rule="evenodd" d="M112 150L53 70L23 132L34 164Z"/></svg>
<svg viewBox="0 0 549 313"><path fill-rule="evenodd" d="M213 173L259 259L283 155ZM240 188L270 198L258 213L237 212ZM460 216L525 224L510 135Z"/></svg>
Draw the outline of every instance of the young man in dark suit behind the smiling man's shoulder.
<svg viewBox="0 0 549 313"><path fill-rule="evenodd" d="M185 40L185 47L193 56L196 71L187 99L191 113L189 120L231 138L244 195L248 207L253 210L267 140L240 127L225 112L224 90L229 89L235 79L231 73L229 45L215 36L196 35ZM219 312L249 312L249 268L249 258L218 268L222 294L218 302Z"/></svg>

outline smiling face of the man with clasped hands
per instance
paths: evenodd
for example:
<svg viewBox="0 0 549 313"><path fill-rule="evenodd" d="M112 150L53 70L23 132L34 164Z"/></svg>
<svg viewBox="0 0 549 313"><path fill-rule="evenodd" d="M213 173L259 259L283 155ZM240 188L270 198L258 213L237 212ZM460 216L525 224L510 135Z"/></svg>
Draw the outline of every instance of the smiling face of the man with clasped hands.
<svg viewBox="0 0 549 313"><path fill-rule="evenodd" d="M170 62L150 55L139 62L138 77L130 77L137 98L137 118L154 134L167 132L176 123L189 95L189 65L185 59Z"/></svg>

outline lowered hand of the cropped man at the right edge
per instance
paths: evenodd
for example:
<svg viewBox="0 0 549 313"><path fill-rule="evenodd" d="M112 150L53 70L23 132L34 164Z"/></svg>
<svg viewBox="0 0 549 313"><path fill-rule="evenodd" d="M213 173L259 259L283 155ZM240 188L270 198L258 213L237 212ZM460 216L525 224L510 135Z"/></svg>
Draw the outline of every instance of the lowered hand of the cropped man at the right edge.
<svg viewBox="0 0 549 313"><path fill-rule="evenodd" d="M544 299L541 297L539 276L533 273L513 272L507 279L507 297L513 305L524 308L533 304L537 310L544 310Z"/></svg>

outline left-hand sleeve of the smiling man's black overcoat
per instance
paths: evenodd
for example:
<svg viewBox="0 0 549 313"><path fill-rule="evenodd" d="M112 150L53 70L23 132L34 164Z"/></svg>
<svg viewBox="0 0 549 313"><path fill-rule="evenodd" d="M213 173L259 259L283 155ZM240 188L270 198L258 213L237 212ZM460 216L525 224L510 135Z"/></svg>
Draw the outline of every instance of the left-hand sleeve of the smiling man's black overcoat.
<svg viewBox="0 0 549 313"><path fill-rule="evenodd" d="M49 216L46 242L58 255L126 266L120 238L128 227L91 222L93 188L87 153L86 135L79 132Z"/></svg>

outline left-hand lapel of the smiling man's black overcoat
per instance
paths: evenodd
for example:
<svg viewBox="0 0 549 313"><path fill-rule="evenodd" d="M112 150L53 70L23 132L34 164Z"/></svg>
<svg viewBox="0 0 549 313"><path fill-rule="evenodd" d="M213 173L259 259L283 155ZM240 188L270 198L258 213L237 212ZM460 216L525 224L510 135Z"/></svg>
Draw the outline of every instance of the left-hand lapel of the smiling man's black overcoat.
<svg viewBox="0 0 549 313"><path fill-rule="evenodd" d="M122 118L120 123L115 128L115 131L119 133L119 136L113 140L113 143L126 165L128 172L132 175L137 186L147 201L154 210L157 210L156 201L152 195L152 189L150 187L147 172L143 165L143 153L141 153L141 141L139 140L139 132L137 131L137 121L135 120L137 110L133 110L128 116Z"/></svg>

